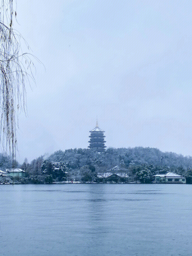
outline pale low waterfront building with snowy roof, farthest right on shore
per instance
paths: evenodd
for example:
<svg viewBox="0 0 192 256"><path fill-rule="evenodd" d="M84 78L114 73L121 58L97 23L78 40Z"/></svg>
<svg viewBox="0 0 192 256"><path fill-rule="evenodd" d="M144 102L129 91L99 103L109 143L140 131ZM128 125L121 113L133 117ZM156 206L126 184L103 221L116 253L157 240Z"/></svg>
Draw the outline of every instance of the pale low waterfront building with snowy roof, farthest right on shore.
<svg viewBox="0 0 192 256"><path fill-rule="evenodd" d="M156 182L161 183L186 183L185 177L173 172L168 172L167 174L156 174L154 177Z"/></svg>

